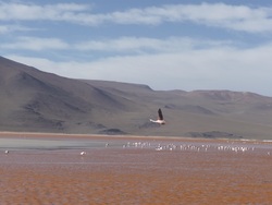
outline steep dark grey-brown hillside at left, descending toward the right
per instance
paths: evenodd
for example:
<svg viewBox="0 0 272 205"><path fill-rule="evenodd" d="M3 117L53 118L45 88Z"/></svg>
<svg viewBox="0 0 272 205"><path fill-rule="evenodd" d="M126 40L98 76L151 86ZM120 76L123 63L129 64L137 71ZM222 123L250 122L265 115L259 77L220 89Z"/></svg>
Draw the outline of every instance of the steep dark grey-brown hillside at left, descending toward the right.
<svg viewBox="0 0 272 205"><path fill-rule="evenodd" d="M103 126L100 120L108 114L135 109L107 91L4 58L0 74L1 130L79 131L87 124L91 131Z"/></svg>

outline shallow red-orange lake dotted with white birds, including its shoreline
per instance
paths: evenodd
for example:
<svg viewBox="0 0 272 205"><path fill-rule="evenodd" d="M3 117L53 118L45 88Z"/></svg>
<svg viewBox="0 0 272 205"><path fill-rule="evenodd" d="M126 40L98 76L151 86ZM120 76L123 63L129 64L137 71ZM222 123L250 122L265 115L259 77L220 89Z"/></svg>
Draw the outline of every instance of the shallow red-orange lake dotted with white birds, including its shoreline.
<svg viewBox="0 0 272 205"><path fill-rule="evenodd" d="M0 133L0 204L272 204L272 142Z"/></svg>

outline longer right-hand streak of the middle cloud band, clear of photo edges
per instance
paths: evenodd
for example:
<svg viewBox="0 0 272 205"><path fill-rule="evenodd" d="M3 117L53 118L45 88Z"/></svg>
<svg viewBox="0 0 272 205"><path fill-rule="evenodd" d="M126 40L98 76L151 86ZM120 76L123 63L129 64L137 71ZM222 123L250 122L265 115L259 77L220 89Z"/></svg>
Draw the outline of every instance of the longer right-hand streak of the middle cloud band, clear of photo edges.
<svg viewBox="0 0 272 205"><path fill-rule="evenodd" d="M194 39L189 37L168 37L164 39L123 36L115 39L100 39L78 43L75 49L82 51L107 52L176 52L193 48L228 47L231 40Z"/></svg>

